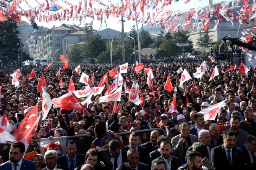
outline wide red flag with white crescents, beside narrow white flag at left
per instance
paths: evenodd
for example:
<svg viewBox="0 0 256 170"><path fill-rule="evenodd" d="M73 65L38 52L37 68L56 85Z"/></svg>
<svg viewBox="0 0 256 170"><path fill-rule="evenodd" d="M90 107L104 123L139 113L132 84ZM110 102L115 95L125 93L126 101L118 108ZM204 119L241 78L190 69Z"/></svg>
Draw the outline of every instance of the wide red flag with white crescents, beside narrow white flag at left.
<svg viewBox="0 0 256 170"><path fill-rule="evenodd" d="M66 93L65 95L52 99L54 107L66 110L83 109L83 105L80 103L73 91Z"/></svg>

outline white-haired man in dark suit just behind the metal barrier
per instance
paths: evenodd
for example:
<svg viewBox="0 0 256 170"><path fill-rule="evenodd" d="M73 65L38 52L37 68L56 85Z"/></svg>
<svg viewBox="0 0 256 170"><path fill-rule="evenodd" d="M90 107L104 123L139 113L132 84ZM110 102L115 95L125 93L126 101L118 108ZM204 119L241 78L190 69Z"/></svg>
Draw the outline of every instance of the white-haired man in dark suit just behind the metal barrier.
<svg viewBox="0 0 256 170"><path fill-rule="evenodd" d="M150 133L150 141L148 141L147 143L143 143L141 144L142 147L146 148L147 150L147 155L149 155L150 152L155 151L156 149L158 149L157 147L157 138L159 137L159 132L157 130L153 130Z"/></svg>

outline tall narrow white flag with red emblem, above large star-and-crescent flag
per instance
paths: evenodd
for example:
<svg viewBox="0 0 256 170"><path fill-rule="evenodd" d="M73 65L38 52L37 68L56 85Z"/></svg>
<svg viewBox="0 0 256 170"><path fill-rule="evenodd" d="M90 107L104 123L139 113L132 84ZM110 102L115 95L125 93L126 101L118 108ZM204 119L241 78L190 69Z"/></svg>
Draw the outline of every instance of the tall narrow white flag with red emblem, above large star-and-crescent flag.
<svg viewBox="0 0 256 170"><path fill-rule="evenodd" d="M42 87L41 87L42 88ZM47 93L44 88L42 88L42 120L44 120L50 109L52 108L52 100L51 97L49 95L49 93Z"/></svg>

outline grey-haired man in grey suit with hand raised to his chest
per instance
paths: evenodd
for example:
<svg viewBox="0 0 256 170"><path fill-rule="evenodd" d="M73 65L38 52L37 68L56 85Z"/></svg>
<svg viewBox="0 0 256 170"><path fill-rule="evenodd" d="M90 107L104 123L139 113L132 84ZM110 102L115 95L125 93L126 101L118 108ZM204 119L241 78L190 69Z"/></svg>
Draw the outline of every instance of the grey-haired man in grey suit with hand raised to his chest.
<svg viewBox="0 0 256 170"><path fill-rule="evenodd" d="M190 126L188 123L180 124L180 133L180 135L172 138L172 146L176 156L185 164L186 152L194 142L198 142L198 137L190 134Z"/></svg>

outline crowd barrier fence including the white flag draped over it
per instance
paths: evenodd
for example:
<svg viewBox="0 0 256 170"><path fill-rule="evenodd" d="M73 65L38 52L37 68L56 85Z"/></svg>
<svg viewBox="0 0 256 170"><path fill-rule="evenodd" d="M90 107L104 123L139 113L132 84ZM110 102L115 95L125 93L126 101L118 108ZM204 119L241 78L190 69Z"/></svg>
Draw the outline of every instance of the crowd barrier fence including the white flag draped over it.
<svg viewBox="0 0 256 170"><path fill-rule="evenodd" d="M165 130L162 128L138 130L136 132L138 132L141 136L140 137L141 144L150 141L150 133L153 130L159 131L160 135L166 135ZM117 133L118 138L123 142L125 146L129 144L128 139L129 139L130 133L131 133L130 131ZM95 137L88 136L87 134L85 134L85 135L75 135L75 136L53 137L52 140L49 140L49 138L31 140L28 150L26 151L26 154L36 151L39 154L42 154L44 156L44 153L47 150L53 149L57 151L58 156L61 156L66 154L66 150L65 150L66 142L71 139L75 140L77 143L77 153L86 154L87 150L91 148L91 143L95 139ZM11 144L12 143L10 142L0 144L0 156L3 157L4 162L9 160L9 151L10 151Z"/></svg>

